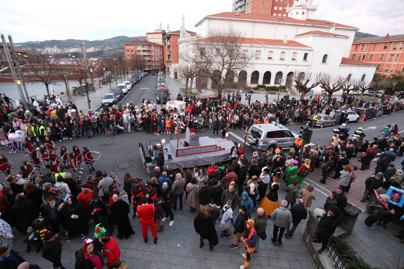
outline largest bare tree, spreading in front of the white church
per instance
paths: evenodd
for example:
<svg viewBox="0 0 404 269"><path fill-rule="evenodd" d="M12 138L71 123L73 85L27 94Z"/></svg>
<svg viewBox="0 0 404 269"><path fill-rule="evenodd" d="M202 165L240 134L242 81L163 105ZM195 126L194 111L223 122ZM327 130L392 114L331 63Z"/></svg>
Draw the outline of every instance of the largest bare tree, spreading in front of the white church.
<svg viewBox="0 0 404 269"><path fill-rule="evenodd" d="M236 85L234 75L250 67L254 54L244 44L244 33L229 27L210 30L206 38L192 42L179 57L194 67L197 78L215 82L220 97L223 89Z"/></svg>

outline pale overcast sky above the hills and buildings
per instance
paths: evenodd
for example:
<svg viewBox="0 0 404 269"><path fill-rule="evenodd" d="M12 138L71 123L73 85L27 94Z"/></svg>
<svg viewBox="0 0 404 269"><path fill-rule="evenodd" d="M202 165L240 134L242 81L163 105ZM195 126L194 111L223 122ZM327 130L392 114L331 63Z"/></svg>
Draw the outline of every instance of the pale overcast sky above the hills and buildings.
<svg viewBox="0 0 404 269"><path fill-rule="evenodd" d="M314 0L316 3L317 0ZM206 15L231 12L232 0L153 1L54 1L47 5L32 0L1 1L0 32L11 34L14 42L84 39L102 40L117 35L139 36L148 31L179 30ZM141 3L141 4L139 4ZM404 1L319 0L313 19L324 19L360 28L376 35L404 33ZM84 15L85 14L85 15Z"/></svg>

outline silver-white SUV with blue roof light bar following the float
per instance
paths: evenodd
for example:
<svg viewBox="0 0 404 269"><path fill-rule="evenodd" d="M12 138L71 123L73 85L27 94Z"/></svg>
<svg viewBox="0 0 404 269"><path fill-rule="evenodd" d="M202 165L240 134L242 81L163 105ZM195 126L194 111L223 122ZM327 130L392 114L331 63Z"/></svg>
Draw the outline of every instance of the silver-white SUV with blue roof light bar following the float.
<svg viewBox="0 0 404 269"><path fill-rule="evenodd" d="M247 132L246 143L256 150L274 152L279 146L283 146L283 149L292 148L298 137L299 134L284 125L271 121L252 125Z"/></svg>

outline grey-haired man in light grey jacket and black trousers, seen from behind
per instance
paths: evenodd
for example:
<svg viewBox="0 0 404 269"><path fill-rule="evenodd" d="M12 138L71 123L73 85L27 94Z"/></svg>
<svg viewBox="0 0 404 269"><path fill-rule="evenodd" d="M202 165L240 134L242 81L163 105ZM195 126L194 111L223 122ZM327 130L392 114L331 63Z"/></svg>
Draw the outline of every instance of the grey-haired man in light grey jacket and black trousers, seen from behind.
<svg viewBox="0 0 404 269"><path fill-rule="evenodd" d="M286 229L286 225L292 223L292 213L288 211L287 206L288 201L282 200L282 202L280 202L280 208L275 209L271 214L271 219L274 220L274 237L271 238L271 241L272 244L276 246L282 245L282 237ZM279 229L280 232L278 236ZM278 238L278 242L276 238Z"/></svg>

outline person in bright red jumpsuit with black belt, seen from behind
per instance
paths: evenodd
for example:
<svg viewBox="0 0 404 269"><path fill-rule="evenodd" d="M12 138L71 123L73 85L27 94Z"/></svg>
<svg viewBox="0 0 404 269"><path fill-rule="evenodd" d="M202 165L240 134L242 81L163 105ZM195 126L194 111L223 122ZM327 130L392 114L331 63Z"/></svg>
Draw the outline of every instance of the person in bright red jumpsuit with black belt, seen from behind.
<svg viewBox="0 0 404 269"><path fill-rule="evenodd" d="M156 207L154 204L148 204L147 198L149 194L142 196L142 204L137 207L136 215L139 216L139 221L142 225L142 236L147 243L147 226L150 228L151 236L153 236L154 244L157 243L157 231L156 225L154 224L154 212L156 212Z"/></svg>

